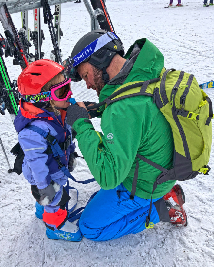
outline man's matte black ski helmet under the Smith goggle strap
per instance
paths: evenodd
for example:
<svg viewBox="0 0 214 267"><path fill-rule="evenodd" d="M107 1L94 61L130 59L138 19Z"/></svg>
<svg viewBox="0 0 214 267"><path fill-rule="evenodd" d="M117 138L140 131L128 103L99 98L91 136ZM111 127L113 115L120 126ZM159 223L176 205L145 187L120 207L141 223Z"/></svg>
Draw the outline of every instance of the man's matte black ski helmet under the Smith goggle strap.
<svg viewBox="0 0 214 267"><path fill-rule="evenodd" d="M97 29L85 34L82 38L79 39L79 41L74 46L71 52L71 58L74 58L75 55L77 55L84 48L86 48L87 45L90 45L93 41L97 40L100 36L106 34L107 32L108 31L103 29ZM106 72L106 68L110 65L113 57L117 53L122 57L124 56L123 43L121 42L120 39L118 40L115 39L108 42L106 45L104 45L102 48L94 52L91 56L87 57L82 62L89 62L94 67L101 69L103 71L104 82L107 83L109 81L109 75ZM75 73L74 80L81 81L82 78L77 72L77 67L78 65L74 67L76 68L76 71L74 72Z"/></svg>

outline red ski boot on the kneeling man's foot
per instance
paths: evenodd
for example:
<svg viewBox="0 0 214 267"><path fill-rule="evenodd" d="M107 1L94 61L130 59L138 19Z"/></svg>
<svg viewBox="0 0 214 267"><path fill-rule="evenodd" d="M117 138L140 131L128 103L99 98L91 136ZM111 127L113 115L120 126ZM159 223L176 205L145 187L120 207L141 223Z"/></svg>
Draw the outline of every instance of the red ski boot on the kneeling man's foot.
<svg viewBox="0 0 214 267"><path fill-rule="evenodd" d="M169 210L170 222L174 227L187 226L186 212L183 209L185 195L179 184L174 185L169 193L163 196Z"/></svg>

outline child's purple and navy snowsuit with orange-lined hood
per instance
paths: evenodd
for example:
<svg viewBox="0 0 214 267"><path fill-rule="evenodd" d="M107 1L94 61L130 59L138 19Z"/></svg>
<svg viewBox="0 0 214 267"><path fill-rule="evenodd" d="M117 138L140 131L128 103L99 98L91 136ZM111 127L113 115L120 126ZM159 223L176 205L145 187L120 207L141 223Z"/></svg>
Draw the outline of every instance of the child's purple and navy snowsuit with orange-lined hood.
<svg viewBox="0 0 214 267"><path fill-rule="evenodd" d="M41 108L41 113L31 115L30 112L24 110L21 100L19 112L15 118L15 129L19 134L18 139L21 148L25 153L22 165L23 175L31 185L36 185L40 189L47 187L51 180L60 185L61 190L56 193L53 202L45 206L46 212L57 212L58 203L62 198L63 185L66 184L68 177L59 169L53 154L44 153L48 147L48 141L37 132L25 128L27 124L35 125L49 132L58 140L58 143L63 143L71 135L71 127L67 125L66 118L57 117L54 112L49 112L43 108ZM75 144L71 141L68 149L63 150L65 156L61 157L61 162L66 167L69 155L74 152L74 149Z"/></svg>

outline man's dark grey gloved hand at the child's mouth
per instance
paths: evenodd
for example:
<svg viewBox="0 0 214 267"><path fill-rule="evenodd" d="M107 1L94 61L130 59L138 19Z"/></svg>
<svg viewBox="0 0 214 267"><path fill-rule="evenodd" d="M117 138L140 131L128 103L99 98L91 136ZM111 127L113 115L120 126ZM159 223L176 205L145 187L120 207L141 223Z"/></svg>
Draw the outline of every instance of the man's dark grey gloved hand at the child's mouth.
<svg viewBox="0 0 214 267"><path fill-rule="evenodd" d="M67 108L67 124L73 125L80 118L88 118L89 115L86 106L83 102L78 102L77 105L71 105Z"/></svg>

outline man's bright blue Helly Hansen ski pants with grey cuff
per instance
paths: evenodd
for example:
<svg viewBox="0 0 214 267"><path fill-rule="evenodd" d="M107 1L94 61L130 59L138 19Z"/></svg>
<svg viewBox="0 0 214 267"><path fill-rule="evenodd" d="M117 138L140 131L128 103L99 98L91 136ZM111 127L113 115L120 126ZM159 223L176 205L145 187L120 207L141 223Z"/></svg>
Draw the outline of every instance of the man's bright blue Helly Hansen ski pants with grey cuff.
<svg viewBox="0 0 214 267"><path fill-rule="evenodd" d="M121 183L114 189L100 191L84 209L79 227L82 234L94 241L106 241L135 234L146 228L150 199L135 196ZM153 199L150 223L169 222L169 212L163 198Z"/></svg>

